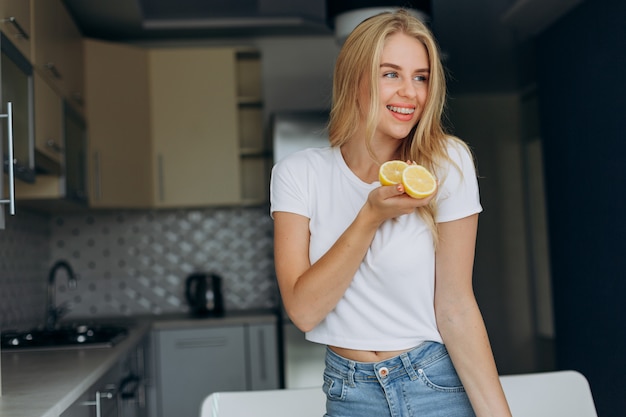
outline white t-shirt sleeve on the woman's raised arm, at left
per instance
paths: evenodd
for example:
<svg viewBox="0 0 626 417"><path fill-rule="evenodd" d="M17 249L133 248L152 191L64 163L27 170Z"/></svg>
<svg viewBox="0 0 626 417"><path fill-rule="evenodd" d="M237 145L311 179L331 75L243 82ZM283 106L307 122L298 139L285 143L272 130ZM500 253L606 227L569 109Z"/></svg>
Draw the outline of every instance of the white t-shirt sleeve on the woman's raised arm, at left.
<svg viewBox="0 0 626 417"><path fill-rule="evenodd" d="M282 159L272 168L270 179L270 216L276 211L300 214L310 217L307 205L306 173L302 164L306 164L300 155Z"/></svg>

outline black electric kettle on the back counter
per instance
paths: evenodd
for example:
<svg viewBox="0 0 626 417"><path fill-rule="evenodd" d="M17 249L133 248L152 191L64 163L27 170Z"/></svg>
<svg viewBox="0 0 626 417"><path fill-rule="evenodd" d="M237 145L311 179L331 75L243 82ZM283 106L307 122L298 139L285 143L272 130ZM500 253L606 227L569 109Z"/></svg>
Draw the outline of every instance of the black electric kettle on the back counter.
<svg viewBox="0 0 626 417"><path fill-rule="evenodd" d="M222 277L213 273L195 272L185 281L185 297L192 315L198 317L222 316Z"/></svg>

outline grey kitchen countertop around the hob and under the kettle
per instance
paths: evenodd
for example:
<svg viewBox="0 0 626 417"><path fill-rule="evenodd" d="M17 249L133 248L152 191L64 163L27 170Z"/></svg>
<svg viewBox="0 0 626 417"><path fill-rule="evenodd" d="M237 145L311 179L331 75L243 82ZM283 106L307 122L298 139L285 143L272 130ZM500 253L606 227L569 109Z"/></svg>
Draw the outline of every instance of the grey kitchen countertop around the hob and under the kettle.
<svg viewBox="0 0 626 417"><path fill-rule="evenodd" d="M235 312L220 318L192 318L173 314L130 320L125 324L128 336L111 348L3 351L0 416L58 417L151 330L268 323L276 322L277 315Z"/></svg>

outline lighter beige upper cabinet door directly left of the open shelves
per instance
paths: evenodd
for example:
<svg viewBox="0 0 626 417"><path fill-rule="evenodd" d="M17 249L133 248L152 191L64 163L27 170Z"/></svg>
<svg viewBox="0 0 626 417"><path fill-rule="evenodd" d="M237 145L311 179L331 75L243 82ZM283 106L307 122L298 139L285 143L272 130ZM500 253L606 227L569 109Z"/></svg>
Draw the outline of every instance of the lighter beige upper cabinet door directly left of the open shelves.
<svg viewBox="0 0 626 417"><path fill-rule="evenodd" d="M156 207L241 202L236 54L150 51Z"/></svg>

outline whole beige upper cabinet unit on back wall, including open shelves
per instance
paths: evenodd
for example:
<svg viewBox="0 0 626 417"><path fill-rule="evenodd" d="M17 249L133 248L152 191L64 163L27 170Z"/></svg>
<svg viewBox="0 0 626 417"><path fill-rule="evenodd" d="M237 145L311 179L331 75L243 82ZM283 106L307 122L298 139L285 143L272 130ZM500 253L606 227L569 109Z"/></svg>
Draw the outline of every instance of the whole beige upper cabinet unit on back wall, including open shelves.
<svg viewBox="0 0 626 417"><path fill-rule="evenodd" d="M87 40L85 57L92 207L267 201L258 52Z"/></svg>

